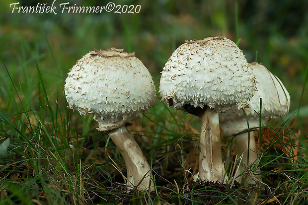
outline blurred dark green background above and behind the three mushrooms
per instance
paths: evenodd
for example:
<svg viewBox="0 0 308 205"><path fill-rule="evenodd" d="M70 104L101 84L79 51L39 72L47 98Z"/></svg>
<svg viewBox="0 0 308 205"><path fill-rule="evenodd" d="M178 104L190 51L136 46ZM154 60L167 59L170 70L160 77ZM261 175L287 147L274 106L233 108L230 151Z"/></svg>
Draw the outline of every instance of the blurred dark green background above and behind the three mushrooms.
<svg viewBox="0 0 308 205"><path fill-rule="evenodd" d="M59 5L105 6L106 0L57 0L54 13L18 13L10 8L51 5L53 0L0 1L0 103L10 109L15 85L37 87L35 60L51 95L63 93L67 72L89 50L110 47L136 52L159 86L160 71L186 39L225 35L243 50L248 62L276 74L291 95L290 115L308 131L308 96L303 92L308 63L307 0L114 0L141 5L139 13L61 13ZM237 18L236 18L237 16ZM236 19L238 23L236 23ZM238 39L240 39L238 41ZM36 93L29 93L35 101ZM62 94L60 102L64 101ZM8 107L7 107L8 106ZM301 108L301 109L300 109ZM299 114L296 113L300 111Z"/></svg>

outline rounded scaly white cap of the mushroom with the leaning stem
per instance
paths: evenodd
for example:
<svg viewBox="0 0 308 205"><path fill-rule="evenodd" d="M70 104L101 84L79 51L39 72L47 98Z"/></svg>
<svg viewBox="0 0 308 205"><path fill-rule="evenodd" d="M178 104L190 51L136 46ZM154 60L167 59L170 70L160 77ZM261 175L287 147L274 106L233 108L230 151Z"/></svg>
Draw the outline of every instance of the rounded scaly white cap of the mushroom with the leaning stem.
<svg viewBox="0 0 308 205"><path fill-rule="evenodd" d="M90 51L71 69L65 80L68 108L92 114L99 131L131 123L153 107L156 92L149 70L123 49Z"/></svg>

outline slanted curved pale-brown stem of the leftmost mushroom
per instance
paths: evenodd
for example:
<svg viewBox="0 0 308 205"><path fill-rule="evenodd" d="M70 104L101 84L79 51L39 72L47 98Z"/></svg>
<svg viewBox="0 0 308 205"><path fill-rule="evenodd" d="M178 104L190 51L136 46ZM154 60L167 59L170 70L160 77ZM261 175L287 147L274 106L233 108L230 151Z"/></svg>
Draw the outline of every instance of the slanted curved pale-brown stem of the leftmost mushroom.
<svg viewBox="0 0 308 205"><path fill-rule="evenodd" d="M127 169L128 187L153 191L150 165L135 139L127 132L125 126L108 132L116 147L124 158Z"/></svg>

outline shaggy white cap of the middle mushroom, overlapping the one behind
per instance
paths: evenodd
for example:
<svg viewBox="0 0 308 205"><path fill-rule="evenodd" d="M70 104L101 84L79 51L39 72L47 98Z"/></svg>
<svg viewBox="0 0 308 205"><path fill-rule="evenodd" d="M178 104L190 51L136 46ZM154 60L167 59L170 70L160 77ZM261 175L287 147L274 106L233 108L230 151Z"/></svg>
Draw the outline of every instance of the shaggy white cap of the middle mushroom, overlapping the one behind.
<svg viewBox="0 0 308 205"><path fill-rule="evenodd" d="M253 96L255 78L242 51L225 36L186 40L161 72L159 93L175 109L185 105L225 112L245 107Z"/></svg>

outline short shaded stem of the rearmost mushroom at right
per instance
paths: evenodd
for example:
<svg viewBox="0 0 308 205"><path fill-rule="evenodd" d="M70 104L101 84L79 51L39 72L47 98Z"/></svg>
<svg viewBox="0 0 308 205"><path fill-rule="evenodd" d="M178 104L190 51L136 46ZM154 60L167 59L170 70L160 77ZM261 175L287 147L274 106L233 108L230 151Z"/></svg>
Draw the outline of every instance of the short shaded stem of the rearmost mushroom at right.
<svg viewBox="0 0 308 205"><path fill-rule="evenodd" d="M249 137L250 136L250 137ZM249 139L250 138L250 139ZM246 167L243 167L242 165L239 165L239 169L235 173L235 180L238 183L241 183L243 181L244 175L241 175L241 173L245 172L246 168L251 166L250 169L253 168L254 163L256 163L258 159L258 152L256 148L256 143L254 140L254 133L253 131L242 133L236 136L236 146L237 146L237 154L241 155L243 154L241 162L245 164ZM248 150L249 150L249 159L248 159ZM253 174L259 174L260 169L253 172ZM241 176L239 176L241 175ZM258 175L259 176L259 175ZM259 178L257 176L257 178ZM248 180L249 184L254 184L255 181L250 178Z"/></svg>

